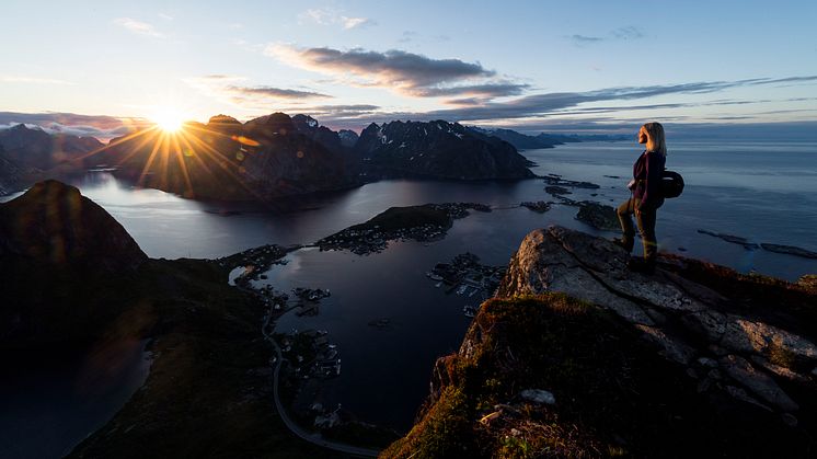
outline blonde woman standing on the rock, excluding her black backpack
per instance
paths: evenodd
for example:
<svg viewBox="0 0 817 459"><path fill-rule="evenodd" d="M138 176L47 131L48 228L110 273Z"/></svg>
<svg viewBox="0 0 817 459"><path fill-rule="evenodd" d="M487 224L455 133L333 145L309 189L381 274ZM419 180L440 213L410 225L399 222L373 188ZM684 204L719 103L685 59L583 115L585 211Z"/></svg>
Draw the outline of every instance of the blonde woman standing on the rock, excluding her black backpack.
<svg viewBox="0 0 817 459"><path fill-rule="evenodd" d="M628 185L632 195L618 209L623 238L617 239L615 242L624 250L633 251L635 229L630 216L635 214L638 232L644 243L644 260L632 259L628 267L652 273L655 269L655 259L658 252L655 238L656 210L664 204L660 192L661 173L667 161L664 126L659 123L647 123L642 126L638 129L638 144L645 145L646 149L633 164L633 180Z"/></svg>

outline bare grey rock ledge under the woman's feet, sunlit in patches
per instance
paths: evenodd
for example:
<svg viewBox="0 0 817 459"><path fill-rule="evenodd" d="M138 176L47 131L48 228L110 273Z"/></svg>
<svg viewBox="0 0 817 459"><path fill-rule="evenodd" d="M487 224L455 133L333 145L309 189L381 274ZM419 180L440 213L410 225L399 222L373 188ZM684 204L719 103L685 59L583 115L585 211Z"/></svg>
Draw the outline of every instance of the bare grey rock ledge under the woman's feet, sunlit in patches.
<svg viewBox="0 0 817 459"><path fill-rule="evenodd" d="M775 382L783 371L770 368L790 370L789 381L808 380L817 367L817 298L795 284L758 282L678 256L663 256L656 275L635 274L625 268L628 256L612 242L583 232L534 231L514 255L499 296L562 291L592 302L641 330L667 358L689 368L701 358L717 362L713 368L760 404L797 411ZM711 277L700 277L707 269ZM724 288L718 277L738 288ZM764 298L746 298L752 287L768 290Z"/></svg>

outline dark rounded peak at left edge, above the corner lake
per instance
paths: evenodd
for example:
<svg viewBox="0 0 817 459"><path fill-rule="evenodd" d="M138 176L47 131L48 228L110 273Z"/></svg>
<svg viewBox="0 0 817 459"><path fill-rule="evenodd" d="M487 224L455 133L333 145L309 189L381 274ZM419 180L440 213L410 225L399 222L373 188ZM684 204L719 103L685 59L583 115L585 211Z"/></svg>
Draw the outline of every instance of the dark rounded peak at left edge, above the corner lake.
<svg viewBox="0 0 817 459"><path fill-rule="evenodd" d="M146 261L125 229L73 186L39 182L0 204L0 348L101 336L123 312L107 295Z"/></svg>

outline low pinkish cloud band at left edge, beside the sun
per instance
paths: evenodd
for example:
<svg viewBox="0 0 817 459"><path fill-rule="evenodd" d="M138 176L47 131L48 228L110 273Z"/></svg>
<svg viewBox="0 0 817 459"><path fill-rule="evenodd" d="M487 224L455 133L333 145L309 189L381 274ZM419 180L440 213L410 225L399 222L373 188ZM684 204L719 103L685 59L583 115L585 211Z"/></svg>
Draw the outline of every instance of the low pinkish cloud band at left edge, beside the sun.
<svg viewBox="0 0 817 459"><path fill-rule="evenodd" d="M38 126L49 134L96 137L105 141L123 136L147 122L136 117L78 115L76 113L15 113L0 112L0 128L25 124Z"/></svg>

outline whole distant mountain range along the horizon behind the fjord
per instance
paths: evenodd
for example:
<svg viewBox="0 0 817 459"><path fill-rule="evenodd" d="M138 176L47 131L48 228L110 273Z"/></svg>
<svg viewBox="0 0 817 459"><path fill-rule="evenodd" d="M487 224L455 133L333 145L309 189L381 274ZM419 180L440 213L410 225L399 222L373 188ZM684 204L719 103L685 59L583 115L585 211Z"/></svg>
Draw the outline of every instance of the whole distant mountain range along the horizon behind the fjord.
<svg viewBox="0 0 817 459"><path fill-rule="evenodd" d="M0 194L92 167L115 168L142 186L192 198L273 199L394 176L519 180L533 176L517 150L618 136L529 136L445 121L371 124L358 136L307 115L274 113L241 123L217 115L166 136L143 128L104 145L18 125L0 130Z"/></svg>

